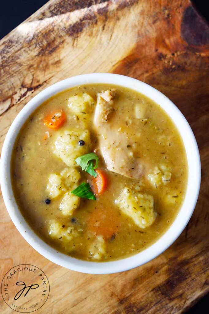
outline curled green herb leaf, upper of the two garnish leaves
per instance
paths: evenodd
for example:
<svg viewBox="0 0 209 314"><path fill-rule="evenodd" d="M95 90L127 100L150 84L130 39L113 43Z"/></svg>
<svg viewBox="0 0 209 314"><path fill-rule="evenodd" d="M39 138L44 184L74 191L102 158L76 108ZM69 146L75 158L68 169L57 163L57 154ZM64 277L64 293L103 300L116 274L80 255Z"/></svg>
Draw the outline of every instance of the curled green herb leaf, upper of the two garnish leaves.
<svg viewBox="0 0 209 314"><path fill-rule="evenodd" d="M95 165L93 160L95 160ZM99 156L94 153L85 154L76 158L75 162L81 166L81 169L88 172L91 176L97 177L97 173L94 171L99 164Z"/></svg>

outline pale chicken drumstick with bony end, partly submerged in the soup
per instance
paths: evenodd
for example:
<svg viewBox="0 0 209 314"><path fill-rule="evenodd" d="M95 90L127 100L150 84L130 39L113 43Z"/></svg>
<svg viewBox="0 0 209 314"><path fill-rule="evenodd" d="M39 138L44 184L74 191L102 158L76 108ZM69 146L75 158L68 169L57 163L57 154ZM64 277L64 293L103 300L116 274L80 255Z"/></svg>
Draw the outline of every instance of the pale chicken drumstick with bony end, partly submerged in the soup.
<svg viewBox="0 0 209 314"><path fill-rule="evenodd" d="M99 93L94 113L94 128L98 134L98 143L107 169L123 176L139 179L144 171L141 160L135 156L134 139L125 123L114 114L115 89Z"/></svg>

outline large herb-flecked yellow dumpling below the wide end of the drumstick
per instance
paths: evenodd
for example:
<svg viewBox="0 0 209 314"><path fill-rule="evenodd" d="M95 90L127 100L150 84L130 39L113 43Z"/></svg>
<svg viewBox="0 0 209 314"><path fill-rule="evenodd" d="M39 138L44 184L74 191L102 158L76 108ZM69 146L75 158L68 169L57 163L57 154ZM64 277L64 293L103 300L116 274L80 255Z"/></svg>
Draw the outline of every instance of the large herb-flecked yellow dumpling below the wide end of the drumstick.
<svg viewBox="0 0 209 314"><path fill-rule="evenodd" d="M152 225L156 218L153 197L138 193L131 188L122 189L115 204L142 229Z"/></svg>

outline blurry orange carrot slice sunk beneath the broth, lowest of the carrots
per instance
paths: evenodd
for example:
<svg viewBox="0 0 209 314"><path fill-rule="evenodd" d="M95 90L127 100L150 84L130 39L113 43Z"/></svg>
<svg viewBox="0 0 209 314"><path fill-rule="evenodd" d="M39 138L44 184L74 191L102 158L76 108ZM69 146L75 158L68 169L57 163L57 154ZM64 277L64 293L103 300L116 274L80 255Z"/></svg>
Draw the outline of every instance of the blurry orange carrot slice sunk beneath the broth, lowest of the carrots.
<svg viewBox="0 0 209 314"><path fill-rule="evenodd" d="M89 231L101 235L105 239L111 238L117 233L119 227L119 216L112 208L94 208L89 216Z"/></svg>

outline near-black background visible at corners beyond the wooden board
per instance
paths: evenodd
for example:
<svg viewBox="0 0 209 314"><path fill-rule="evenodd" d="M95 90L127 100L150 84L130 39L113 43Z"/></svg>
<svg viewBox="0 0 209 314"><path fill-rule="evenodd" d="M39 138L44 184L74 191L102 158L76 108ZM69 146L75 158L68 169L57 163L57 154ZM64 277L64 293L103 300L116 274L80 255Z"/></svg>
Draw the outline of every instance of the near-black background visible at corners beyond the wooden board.
<svg viewBox="0 0 209 314"><path fill-rule="evenodd" d="M70 1L70 0L69 0ZM174 0L175 1L175 0ZM192 1L198 12L209 21L208 0ZM7 35L11 30L27 19L31 14L42 7L46 0L17 0L4 1L1 3L0 10L0 39ZM206 314L209 313L209 295L203 297L187 314ZM156 313L158 314L158 313Z"/></svg>

